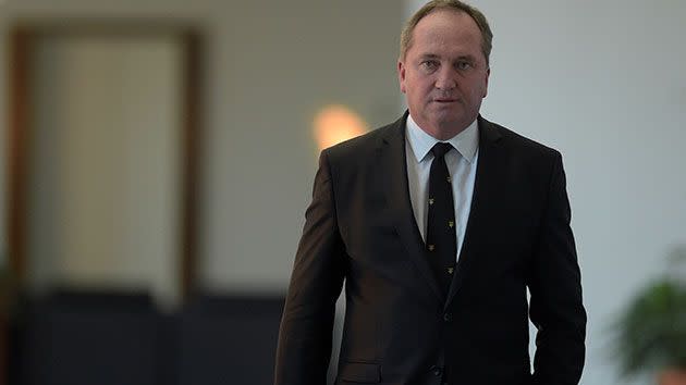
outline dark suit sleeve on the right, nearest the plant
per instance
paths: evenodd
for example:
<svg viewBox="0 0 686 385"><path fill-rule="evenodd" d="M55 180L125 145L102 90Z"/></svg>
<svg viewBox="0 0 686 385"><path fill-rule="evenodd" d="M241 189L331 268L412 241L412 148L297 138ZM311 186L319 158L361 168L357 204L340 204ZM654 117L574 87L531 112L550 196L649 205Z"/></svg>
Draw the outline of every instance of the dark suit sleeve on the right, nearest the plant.
<svg viewBox="0 0 686 385"><path fill-rule="evenodd" d="M560 153L550 175L529 282L529 315L538 328L532 383L576 385L584 368L586 310Z"/></svg>

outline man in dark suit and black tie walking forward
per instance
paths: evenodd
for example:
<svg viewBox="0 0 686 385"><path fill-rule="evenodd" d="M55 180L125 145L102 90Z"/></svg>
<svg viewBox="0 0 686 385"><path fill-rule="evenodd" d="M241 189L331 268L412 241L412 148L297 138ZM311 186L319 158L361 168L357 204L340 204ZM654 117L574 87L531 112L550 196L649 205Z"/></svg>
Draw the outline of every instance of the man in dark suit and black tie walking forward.
<svg viewBox="0 0 686 385"><path fill-rule="evenodd" d="M478 10L429 2L401 36L408 113L322 151L277 385L326 383L344 281L336 384L578 383L586 312L561 156L479 115L491 39Z"/></svg>

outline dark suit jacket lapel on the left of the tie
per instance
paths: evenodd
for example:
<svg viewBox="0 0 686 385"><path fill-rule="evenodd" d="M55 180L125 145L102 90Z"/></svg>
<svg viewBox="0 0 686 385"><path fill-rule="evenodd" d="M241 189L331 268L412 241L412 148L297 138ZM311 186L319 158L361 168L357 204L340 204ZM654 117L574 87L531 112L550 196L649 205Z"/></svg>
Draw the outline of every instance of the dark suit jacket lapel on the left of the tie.
<svg viewBox="0 0 686 385"><path fill-rule="evenodd" d="M405 160L405 122L407 113L393 123L388 134L382 138L378 148L380 170L383 171L380 181L384 181L385 199L389 204L393 224L407 250L407 254L419 275L431 287L436 299L443 303L444 294L439 288L431 266L425 254L424 240L417 227L409 199L407 186L407 162Z"/></svg>

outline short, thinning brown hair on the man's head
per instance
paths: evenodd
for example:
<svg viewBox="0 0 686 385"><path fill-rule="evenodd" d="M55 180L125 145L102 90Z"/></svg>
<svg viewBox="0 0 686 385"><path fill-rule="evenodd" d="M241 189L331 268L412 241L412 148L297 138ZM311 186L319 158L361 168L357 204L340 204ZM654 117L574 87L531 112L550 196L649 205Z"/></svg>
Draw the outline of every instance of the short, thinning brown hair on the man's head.
<svg viewBox="0 0 686 385"><path fill-rule="evenodd" d="M403 27L403 32L401 34L400 59L405 59L407 50L412 46L412 34L419 21L440 10L464 12L476 22L479 30L481 32L481 52L483 52L483 57L486 58L486 65L489 65L491 48L493 45L493 33L491 32L491 27L488 25L488 21L481 11L460 0L432 0L421 7L421 9L417 11L409 21L407 21L405 27Z"/></svg>

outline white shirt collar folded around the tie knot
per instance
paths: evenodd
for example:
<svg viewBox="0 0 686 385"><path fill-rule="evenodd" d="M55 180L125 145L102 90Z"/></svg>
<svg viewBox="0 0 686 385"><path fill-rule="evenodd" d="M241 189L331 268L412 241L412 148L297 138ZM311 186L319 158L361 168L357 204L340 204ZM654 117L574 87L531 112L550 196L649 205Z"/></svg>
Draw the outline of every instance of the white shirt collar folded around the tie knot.
<svg viewBox="0 0 686 385"><path fill-rule="evenodd" d="M431 151L433 145L439 141L446 141L460 152L460 154L469 163L474 161L477 149L479 147L479 131L478 124L475 120L467 128L463 129L460 134L453 136L448 140L439 140L431 135L427 134L424 129L415 123L412 115L407 115L406 137L412 148L412 152L415 153L417 163L421 162L426 156Z"/></svg>

